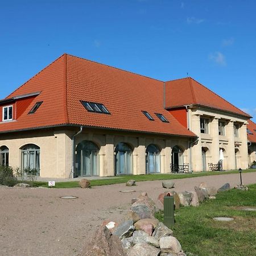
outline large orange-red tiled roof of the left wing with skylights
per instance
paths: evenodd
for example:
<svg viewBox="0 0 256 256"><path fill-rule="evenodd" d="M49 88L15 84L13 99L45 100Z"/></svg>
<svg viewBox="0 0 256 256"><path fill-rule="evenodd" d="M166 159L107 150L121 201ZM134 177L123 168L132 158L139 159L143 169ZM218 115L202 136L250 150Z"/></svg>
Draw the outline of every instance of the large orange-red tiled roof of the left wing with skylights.
<svg viewBox="0 0 256 256"><path fill-rule="evenodd" d="M195 137L163 108L163 82L66 55L16 89L7 98L40 92L20 117L0 123L0 132L57 125L84 125ZM88 112L80 100L102 103L109 114ZM43 104L28 114L35 102ZM155 121L148 120L146 110ZM169 123L154 113L162 113Z"/></svg>

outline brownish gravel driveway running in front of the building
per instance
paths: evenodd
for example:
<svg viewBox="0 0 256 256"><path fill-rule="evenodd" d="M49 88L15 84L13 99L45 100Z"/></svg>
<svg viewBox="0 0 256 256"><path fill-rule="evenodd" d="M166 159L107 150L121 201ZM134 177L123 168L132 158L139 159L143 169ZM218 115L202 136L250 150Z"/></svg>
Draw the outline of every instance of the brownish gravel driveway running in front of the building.
<svg viewBox="0 0 256 256"><path fill-rule="evenodd" d="M175 191L190 191L206 181L216 188L240 183L239 174L175 180ZM243 174L243 183L256 183L256 172ZM135 192L119 191L134 189ZM0 187L0 255L79 255L104 220L120 222L131 199L146 191L156 199L166 191L162 181L142 181L91 189ZM78 199L61 199L77 196Z"/></svg>

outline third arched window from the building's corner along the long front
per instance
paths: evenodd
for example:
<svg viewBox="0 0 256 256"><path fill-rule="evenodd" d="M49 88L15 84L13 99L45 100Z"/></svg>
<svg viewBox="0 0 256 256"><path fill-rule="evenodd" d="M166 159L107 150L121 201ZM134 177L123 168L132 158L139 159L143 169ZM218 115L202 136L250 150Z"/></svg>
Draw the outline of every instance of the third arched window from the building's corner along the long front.
<svg viewBox="0 0 256 256"><path fill-rule="evenodd" d="M160 172L160 150L154 144L146 148L146 174Z"/></svg>

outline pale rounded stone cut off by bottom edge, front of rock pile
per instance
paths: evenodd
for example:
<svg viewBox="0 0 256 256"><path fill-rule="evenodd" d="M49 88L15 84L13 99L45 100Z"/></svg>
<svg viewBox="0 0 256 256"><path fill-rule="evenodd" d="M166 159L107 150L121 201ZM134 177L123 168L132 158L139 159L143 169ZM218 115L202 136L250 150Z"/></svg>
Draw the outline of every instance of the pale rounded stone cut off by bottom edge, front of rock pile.
<svg viewBox="0 0 256 256"><path fill-rule="evenodd" d="M129 249L127 256L159 256L160 249L147 243L137 243ZM113 254L114 256L114 254Z"/></svg>

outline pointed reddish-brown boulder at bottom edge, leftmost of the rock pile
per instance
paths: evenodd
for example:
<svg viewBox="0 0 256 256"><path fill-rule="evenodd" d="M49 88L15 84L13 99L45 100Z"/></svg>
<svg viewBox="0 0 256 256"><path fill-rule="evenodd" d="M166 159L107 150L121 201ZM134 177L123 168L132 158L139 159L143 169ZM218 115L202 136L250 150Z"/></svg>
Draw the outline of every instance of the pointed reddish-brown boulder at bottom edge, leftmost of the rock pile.
<svg viewBox="0 0 256 256"><path fill-rule="evenodd" d="M106 226L101 226L96 231L96 234L86 246L86 251L82 253L83 256L125 256L126 253L123 251L122 243L118 237L114 236Z"/></svg>

